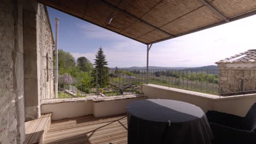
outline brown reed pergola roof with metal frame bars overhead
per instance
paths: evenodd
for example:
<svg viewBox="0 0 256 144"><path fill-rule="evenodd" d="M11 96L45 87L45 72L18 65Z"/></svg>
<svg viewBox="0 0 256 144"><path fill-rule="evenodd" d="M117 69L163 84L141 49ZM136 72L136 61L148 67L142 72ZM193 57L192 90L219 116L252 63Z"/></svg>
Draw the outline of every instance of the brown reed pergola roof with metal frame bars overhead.
<svg viewBox="0 0 256 144"><path fill-rule="evenodd" d="M143 44L158 43L256 14L255 0L38 1Z"/></svg>

